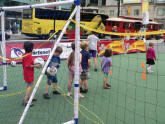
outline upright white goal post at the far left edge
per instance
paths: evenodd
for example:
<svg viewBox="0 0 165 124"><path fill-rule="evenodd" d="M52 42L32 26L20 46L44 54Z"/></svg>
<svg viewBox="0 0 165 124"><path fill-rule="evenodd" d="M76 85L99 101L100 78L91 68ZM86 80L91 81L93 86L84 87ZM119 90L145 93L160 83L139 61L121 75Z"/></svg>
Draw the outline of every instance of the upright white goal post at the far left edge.
<svg viewBox="0 0 165 124"><path fill-rule="evenodd" d="M5 11L1 11L1 31L2 31L2 56L6 58L6 40L5 40ZM6 69L6 60L2 59L3 65L3 90L7 90L7 69Z"/></svg>

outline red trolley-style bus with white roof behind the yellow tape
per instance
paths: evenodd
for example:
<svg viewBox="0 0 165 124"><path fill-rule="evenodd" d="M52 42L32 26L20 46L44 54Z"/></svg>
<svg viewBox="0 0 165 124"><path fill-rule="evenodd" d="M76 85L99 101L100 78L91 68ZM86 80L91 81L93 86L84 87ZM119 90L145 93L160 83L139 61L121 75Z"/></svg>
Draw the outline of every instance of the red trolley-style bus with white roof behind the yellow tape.
<svg viewBox="0 0 165 124"><path fill-rule="evenodd" d="M145 25L142 24L142 19L140 18L130 18L130 17L123 17L120 18L109 18L106 20L106 31L114 32L139 32L141 29L144 29ZM147 25L146 31L158 31L161 29L161 24L153 22L150 20L149 24ZM155 38L160 39L160 35L150 35L146 36L147 39Z"/></svg>

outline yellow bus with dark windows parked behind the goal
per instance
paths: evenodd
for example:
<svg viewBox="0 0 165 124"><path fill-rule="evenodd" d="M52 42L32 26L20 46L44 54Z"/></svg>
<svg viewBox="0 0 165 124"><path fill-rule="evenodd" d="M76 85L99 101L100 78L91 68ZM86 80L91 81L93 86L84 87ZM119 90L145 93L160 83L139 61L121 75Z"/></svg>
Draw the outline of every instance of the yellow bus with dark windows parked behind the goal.
<svg viewBox="0 0 165 124"><path fill-rule="evenodd" d="M66 21L69 19L70 11L33 8L23 11L22 33L28 36L51 36L54 32L58 35L63 29ZM107 15L81 13L81 24L90 28L105 30L105 21ZM73 38L75 26L69 25L65 35L67 38ZM90 32L81 29L81 36L88 35Z"/></svg>

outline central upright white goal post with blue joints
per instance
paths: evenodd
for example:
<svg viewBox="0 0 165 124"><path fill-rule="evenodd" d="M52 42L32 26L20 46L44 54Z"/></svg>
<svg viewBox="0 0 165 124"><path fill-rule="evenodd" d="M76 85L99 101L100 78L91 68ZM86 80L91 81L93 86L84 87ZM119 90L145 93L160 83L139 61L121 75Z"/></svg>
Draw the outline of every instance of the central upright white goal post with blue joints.
<svg viewBox="0 0 165 124"><path fill-rule="evenodd" d="M80 0L76 0L75 4L77 6L76 12L76 22L80 23ZM75 84L74 84L74 122L78 123L78 109L79 109L79 65L80 65L80 26L76 24L75 33Z"/></svg>

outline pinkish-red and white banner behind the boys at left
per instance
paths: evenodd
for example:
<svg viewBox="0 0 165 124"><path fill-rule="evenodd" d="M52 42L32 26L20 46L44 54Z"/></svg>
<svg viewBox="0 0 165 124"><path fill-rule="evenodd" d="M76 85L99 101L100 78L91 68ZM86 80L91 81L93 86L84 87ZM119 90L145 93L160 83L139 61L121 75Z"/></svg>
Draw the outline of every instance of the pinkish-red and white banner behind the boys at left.
<svg viewBox="0 0 165 124"><path fill-rule="evenodd" d="M63 53L61 54L61 59L66 59L71 53L71 41L70 42L60 42L58 46L61 46L63 49ZM24 43L7 43L6 44L6 58L7 63L11 61L22 62L22 56L25 53L23 49ZM37 42L34 43L34 50L32 52L32 56L34 58L41 57L44 60L47 60L54 44L52 42Z"/></svg>

